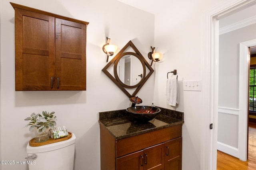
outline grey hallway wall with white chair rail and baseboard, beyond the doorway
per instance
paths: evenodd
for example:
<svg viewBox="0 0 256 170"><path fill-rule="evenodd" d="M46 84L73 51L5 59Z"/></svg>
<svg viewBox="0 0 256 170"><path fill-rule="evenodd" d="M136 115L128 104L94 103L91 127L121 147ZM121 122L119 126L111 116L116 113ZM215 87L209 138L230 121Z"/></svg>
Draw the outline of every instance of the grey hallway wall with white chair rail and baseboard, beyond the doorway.
<svg viewBox="0 0 256 170"><path fill-rule="evenodd" d="M219 36L218 149L233 156L238 156L239 43L256 39L255 30L253 24Z"/></svg>

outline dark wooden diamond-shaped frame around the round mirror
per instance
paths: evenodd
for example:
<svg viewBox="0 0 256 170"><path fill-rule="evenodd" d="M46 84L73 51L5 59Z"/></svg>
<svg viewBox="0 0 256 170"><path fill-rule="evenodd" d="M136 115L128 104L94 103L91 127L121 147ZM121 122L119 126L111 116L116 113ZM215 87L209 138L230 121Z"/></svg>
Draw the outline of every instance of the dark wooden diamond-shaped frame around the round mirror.
<svg viewBox="0 0 256 170"><path fill-rule="evenodd" d="M132 47L132 49L135 51L135 53L137 54L136 57L140 57L138 58L141 62L142 62L142 66L146 66L149 69L148 74L146 75L146 71L145 71L145 75L143 76L142 80L140 81L139 86L136 87L136 90L130 94L126 89L125 86L123 84L121 84L120 82L118 82L118 80L113 77L109 72L108 72L108 68L110 68L110 66L112 64L114 64L117 60L119 61L119 58L122 57L124 54L124 51L126 51L126 49L128 49L129 47ZM139 90L142 88L142 86L146 83L146 81L148 80L148 78L153 74L154 70L153 68L150 66L150 64L148 64L148 62L146 61L146 59L142 56L142 54L140 53L140 51L138 51L138 49L135 47L135 45L132 43L132 41L129 41L120 51L119 53L108 63L106 64L106 66L102 69L102 71L126 94L126 96L128 96L129 98L131 98L132 96L135 96Z"/></svg>

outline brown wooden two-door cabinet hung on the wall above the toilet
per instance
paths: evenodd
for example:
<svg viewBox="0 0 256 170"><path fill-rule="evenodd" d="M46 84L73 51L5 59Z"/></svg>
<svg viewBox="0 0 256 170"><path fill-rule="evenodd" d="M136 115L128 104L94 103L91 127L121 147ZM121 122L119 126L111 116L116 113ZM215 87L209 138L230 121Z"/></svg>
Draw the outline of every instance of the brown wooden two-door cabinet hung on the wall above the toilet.
<svg viewBox="0 0 256 170"><path fill-rule="evenodd" d="M15 90L86 90L86 25L11 3L15 10Z"/></svg>

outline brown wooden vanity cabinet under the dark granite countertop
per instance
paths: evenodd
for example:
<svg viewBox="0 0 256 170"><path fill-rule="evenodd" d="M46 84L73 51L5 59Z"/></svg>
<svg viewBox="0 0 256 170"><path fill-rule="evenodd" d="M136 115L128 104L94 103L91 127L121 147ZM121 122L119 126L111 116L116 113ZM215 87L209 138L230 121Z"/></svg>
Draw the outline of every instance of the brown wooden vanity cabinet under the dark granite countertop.
<svg viewBox="0 0 256 170"><path fill-rule="evenodd" d="M101 170L181 170L181 125L116 140L100 125Z"/></svg>

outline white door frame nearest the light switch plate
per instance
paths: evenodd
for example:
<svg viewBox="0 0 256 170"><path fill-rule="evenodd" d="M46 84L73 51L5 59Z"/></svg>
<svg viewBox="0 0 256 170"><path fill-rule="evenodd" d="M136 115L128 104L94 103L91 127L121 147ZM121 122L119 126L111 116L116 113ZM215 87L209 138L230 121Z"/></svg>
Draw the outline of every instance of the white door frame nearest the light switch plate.
<svg viewBox="0 0 256 170"><path fill-rule="evenodd" d="M202 80L202 147L201 170L216 170L217 162L217 131L218 131L218 20L227 14L246 8L256 0L227 0L218 6L204 12L203 18L203 80ZM245 45L246 46L246 45ZM248 49L248 47L247 47ZM247 71L248 74L248 71ZM248 81L248 77L247 77ZM247 93L248 94L248 91ZM239 126L244 123L239 116ZM213 123L213 129L209 125ZM246 123L247 125L247 123ZM245 135L245 128L239 127L239 135ZM247 135L247 129L246 129ZM240 137L239 137L240 138ZM247 151L247 136L246 138ZM243 146L242 146L243 145ZM238 141L239 149L244 149L245 143ZM247 154L247 153L246 153ZM240 154L239 154L240 155ZM244 154L241 153L243 156Z"/></svg>

